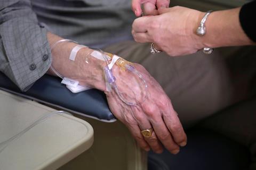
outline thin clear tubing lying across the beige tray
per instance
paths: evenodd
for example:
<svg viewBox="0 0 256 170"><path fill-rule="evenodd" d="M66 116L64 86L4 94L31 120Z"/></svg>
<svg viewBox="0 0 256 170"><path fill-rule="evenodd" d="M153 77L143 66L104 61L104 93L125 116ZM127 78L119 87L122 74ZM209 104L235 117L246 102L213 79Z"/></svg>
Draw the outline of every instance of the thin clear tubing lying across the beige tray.
<svg viewBox="0 0 256 170"><path fill-rule="evenodd" d="M59 115L63 115L63 114L66 114L66 115L71 115L69 114L68 112L65 112L65 111L54 111L54 112L51 112L50 114L47 114L39 119L36 120L36 122L34 122L33 124L29 125L27 128L23 129L20 133L10 137L9 139L7 139L6 141L3 141L0 143L0 153L13 141L17 140L20 136L22 136L23 134L25 134L26 132L29 131L29 129L35 127L36 125L38 125L39 123L42 123L44 122L47 118L53 116L53 115L56 115L56 114L59 114Z"/></svg>

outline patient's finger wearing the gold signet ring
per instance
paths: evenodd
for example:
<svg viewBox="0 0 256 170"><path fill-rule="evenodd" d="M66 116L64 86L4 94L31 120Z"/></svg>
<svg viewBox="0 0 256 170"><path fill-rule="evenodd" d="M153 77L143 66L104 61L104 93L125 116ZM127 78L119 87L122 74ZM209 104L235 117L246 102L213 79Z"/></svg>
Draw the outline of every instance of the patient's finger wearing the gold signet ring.
<svg viewBox="0 0 256 170"><path fill-rule="evenodd" d="M137 120L141 131L152 128L148 118L144 114L143 110L140 109L140 107L132 107L132 112L133 112L134 119ZM159 142L159 140L157 139L157 136L155 135L154 132L150 137L144 137L144 139L147 141L147 143L150 145L150 148L154 152L156 153L163 152L163 147Z"/></svg>

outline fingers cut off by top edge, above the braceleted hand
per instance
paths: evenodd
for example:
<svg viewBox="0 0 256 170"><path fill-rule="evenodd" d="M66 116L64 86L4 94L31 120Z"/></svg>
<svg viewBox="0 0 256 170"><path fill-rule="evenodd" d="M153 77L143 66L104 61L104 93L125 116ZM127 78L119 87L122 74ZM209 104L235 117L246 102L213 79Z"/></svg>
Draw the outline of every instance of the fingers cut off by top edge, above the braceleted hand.
<svg viewBox="0 0 256 170"><path fill-rule="evenodd" d="M142 14L141 4L143 15L157 15L157 9L169 7L170 0L132 0L132 10L137 17Z"/></svg>

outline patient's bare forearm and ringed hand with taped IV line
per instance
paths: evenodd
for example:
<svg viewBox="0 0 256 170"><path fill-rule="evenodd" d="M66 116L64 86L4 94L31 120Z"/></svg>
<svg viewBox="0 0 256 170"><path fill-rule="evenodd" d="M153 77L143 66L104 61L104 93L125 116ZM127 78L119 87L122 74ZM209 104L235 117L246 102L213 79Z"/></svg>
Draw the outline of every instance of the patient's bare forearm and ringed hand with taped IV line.
<svg viewBox="0 0 256 170"><path fill-rule="evenodd" d="M50 44L57 42L61 37L47 34ZM136 106L129 106L118 98L118 95L106 91L105 61L91 56L92 49L82 48L78 51L75 61L69 60L69 54L75 43L60 43L52 50L52 66L62 76L75 79L81 85L91 86L104 91L107 95L110 110L131 131L141 148L159 153L163 148L161 143L172 153L178 153L179 145L187 142L187 137L180 120L174 111L171 101L156 80L149 75L140 64L133 64L147 83L147 96L145 98L145 85L138 84L138 76L130 71L120 69L116 64L112 72L116 77L118 90L124 98L138 102ZM141 83L141 82L140 82ZM144 89L143 89L144 88ZM132 101L132 102L134 102ZM151 137L143 137L141 130L153 128Z"/></svg>

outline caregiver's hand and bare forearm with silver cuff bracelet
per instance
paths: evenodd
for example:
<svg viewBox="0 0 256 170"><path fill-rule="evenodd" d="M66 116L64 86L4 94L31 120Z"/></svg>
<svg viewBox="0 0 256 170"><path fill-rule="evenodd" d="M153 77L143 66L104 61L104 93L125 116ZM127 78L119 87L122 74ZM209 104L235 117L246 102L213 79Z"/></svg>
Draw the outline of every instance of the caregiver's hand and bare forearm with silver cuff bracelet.
<svg viewBox="0 0 256 170"><path fill-rule="evenodd" d="M154 43L157 50L171 56L195 53L204 47L253 45L239 22L240 10L212 12L205 22L206 34L198 36L196 29L204 12L181 6L158 9L159 15L135 19L132 35L135 41Z"/></svg>

